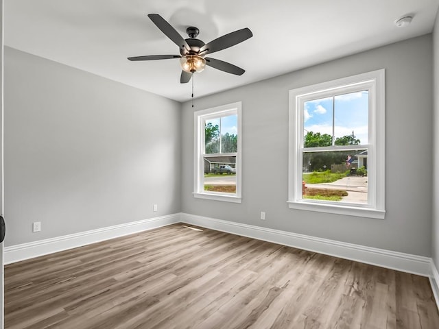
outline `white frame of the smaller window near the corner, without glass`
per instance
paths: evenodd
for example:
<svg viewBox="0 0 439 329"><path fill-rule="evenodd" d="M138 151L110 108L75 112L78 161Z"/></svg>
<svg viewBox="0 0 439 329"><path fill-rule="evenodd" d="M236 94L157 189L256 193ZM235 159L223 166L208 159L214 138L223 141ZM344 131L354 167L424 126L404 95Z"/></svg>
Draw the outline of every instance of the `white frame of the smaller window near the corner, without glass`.
<svg viewBox="0 0 439 329"><path fill-rule="evenodd" d="M237 114L237 152L236 152L236 193L219 193L204 191L204 121L206 119L214 119L219 117L227 117L228 115ZM193 113L193 131L194 131L194 151L193 151L193 196L200 199L211 199L216 201L241 203L241 130L242 104L241 101L230 103L215 108L199 110ZM234 154L222 154L222 156L230 156Z"/></svg>

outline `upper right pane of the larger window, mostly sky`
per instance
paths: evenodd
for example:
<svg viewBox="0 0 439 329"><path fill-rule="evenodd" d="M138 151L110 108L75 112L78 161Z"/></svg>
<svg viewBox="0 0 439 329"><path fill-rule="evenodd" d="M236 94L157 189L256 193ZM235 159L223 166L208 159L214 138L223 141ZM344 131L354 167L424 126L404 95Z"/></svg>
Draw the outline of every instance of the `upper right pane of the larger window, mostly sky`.
<svg viewBox="0 0 439 329"><path fill-rule="evenodd" d="M335 145L368 144L368 90L334 97Z"/></svg>

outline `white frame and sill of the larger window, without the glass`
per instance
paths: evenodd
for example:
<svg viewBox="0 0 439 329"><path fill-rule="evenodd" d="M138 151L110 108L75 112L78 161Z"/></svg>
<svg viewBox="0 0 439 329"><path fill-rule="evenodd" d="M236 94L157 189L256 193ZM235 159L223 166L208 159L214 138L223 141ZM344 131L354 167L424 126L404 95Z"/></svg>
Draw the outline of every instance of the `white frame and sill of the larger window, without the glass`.
<svg viewBox="0 0 439 329"><path fill-rule="evenodd" d="M384 69L289 90L289 173L288 206L292 209L329 212L340 215L385 217L385 71ZM302 199L303 110L305 101L333 95L369 92L368 144L356 149L368 149L368 204L321 202ZM340 147L353 149L352 146ZM314 148L326 151L327 147Z"/></svg>

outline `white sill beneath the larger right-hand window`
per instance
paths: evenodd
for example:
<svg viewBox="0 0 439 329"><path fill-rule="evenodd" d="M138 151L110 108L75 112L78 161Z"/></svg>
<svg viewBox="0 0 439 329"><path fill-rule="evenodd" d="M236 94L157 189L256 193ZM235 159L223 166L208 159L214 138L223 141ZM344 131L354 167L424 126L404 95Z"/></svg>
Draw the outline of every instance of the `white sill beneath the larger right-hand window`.
<svg viewBox="0 0 439 329"><path fill-rule="evenodd" d="M327 212L330 214L348 215L357 217L368 217L375 219L384 219L385 210L377 210L371 208L359 208L352 206L342 206L333 204L311 204L309 202L292 202L287 201L290 209L309 210L317 212Z"/></svg>

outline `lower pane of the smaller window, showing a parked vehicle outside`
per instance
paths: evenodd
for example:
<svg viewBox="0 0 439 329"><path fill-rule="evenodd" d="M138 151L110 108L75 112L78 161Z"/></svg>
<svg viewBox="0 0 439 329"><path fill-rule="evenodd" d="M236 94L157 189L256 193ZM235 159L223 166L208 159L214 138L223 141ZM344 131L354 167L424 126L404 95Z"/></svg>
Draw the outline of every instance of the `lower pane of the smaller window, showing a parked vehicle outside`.
<svg viewBox="0 0 439 329"><path fill-rule="evenodd" d="M236 156L204 156L204 191L236 193Z"/></svg>

